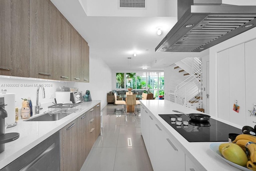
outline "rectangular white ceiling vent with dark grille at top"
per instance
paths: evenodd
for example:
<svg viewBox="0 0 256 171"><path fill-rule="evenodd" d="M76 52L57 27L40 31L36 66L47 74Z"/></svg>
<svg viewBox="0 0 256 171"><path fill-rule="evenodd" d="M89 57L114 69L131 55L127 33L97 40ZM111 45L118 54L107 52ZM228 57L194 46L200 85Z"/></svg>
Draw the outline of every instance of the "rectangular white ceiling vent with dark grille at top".
<svg viewBox="0 0 256 171"><path fill-rule="evenodd" d="M118 9L146 9L146 0L118 0Z"/></svg>

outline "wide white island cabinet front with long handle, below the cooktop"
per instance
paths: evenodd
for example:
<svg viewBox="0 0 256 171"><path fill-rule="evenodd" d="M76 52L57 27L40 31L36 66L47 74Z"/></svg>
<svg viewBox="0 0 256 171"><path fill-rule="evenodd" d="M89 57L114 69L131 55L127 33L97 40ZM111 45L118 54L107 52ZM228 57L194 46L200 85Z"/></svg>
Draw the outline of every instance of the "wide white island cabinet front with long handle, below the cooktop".
<svg viewBox="0 0 256 171"><path fill-rule="evenodd" d="M155 122L155 171L184 171L185 153L172 138Z"/></svg>

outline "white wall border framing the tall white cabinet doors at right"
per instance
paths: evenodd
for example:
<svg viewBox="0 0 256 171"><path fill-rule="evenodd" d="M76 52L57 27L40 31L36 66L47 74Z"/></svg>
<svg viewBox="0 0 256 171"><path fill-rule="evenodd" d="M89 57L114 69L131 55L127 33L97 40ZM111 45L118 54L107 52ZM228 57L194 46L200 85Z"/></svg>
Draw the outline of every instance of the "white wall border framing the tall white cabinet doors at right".
<svg viewBox="0 0 256 171"><path fill-rule="evenodd" d="M210 115L218 116L217 53L220 51L226 50L228 48L231 48L233 46L236 46L238 44L249 42L250 40L253 40L255 38L256 38L256 28L252 28L247 32L244 32L238 36L235 36L234 38L226 40L225 42L222 42L210 48L210 54L209 54L210 55ZM237 57L234 56L233 58L236 59ZM254 70L254 68L250 68L250 69Z"/></svg>

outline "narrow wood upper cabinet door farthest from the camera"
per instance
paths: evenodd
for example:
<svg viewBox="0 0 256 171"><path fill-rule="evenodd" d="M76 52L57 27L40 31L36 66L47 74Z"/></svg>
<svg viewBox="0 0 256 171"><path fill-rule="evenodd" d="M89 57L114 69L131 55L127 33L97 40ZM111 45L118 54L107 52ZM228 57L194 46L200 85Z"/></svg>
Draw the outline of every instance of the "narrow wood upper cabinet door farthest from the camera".
<svg viewBox="0 0 256 171"><path fill-rule="evenodd" d="M82 38L82 82L89 82L89 46Z"/></svg>

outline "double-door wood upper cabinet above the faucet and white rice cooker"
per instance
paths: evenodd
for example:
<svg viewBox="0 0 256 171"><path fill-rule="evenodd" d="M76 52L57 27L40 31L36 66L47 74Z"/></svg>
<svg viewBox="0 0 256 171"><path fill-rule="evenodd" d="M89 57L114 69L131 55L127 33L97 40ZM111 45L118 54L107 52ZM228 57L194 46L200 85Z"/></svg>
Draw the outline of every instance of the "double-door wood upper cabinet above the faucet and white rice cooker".
<svg viewBox="0 0 256 171"><path fill-rule="evenodd" d="M70 25L50 0L30 9L30 77L70 81Z"/></svg>

